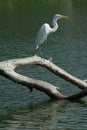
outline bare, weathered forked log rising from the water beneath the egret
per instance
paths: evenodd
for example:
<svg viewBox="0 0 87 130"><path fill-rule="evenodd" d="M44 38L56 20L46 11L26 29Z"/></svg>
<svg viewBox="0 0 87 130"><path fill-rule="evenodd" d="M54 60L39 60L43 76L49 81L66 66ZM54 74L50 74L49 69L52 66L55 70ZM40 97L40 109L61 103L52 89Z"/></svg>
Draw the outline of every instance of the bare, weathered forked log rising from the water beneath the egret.
<svg viewBox="0 0 87 130"><path fill-rule="evenodd" d="M80 93L71 96L64 96L59 92L58 87L50 83L37 79L32 79L27 76L18 74L14 71L20 66L29 64L43 66L54 74L62 77L63 79L71 82L72 84L75 84L83 90ZM79 99L87 95L87 83L85 81L72 76L71 74L67 73L63 69L53 64L51 61L43 59L36 55L27 58L5 60L3 62L0 62L0 75L3 75L10 80L13 80L14 82L27 86L31 91L33 90L33 88L40 90L46 93L52 99Z"/></svg>

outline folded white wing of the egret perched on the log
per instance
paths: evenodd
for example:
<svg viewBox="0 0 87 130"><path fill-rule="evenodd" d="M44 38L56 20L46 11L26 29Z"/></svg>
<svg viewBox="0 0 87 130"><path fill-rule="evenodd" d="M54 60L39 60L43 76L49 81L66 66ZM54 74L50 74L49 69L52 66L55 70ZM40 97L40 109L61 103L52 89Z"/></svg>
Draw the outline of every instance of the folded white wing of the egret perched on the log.
<svg viewBox="0 0 87 130"><path fill-rule="evenodd" d="M47 39L49 24L45 23L41 26L36 37L36 49Z"/></svg>

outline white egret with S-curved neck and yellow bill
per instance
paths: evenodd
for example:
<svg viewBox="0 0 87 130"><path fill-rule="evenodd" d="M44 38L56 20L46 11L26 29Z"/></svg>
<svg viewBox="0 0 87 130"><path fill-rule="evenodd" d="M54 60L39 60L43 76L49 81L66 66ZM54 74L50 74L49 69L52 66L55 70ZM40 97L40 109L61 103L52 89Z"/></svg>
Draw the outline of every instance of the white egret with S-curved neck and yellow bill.
<svg viewBox="0 0 87 130"><path fill-rule="evenodd" d="M49 34L54 33L54 32L57 31L57 29L58 29L58 23L57 23L57 21L59 19L62 19L62 18L67 19L68 16L64 16L64 15L60 15L60 14L55 14L54 17L53 17L53 20L52 20L53 27L50 27L50 25L48 23L44 23L41 26L40 30L37 33L36 40L35 40L36 49L39 49L39 47L45 41L47 41L47 37L48 37Z"/></svg>

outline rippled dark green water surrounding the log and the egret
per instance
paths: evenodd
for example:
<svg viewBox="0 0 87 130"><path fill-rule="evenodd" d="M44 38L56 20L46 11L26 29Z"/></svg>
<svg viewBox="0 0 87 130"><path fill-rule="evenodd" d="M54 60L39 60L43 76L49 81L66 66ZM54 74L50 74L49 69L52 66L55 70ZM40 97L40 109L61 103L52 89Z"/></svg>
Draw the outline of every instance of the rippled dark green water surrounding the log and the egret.
<svg viewBox="0 0 87 130"><path fill-rule="evenodd" d="M87 0L1 0L0 61L35 54L35 37L40 26L59 13L59 29L47 41L53 62L87 79ZM38 53L38 52L37 52ZM79 89L37 66L22 67L18 72L46 80L66 95ZM51 101L45 94L32 93L0 76L0 130L86 130L87 97L79 101Z"/></svg>

